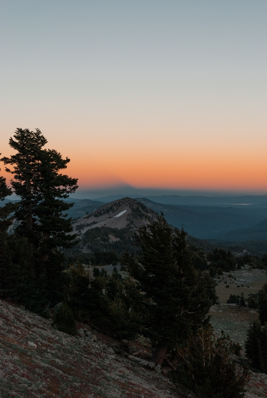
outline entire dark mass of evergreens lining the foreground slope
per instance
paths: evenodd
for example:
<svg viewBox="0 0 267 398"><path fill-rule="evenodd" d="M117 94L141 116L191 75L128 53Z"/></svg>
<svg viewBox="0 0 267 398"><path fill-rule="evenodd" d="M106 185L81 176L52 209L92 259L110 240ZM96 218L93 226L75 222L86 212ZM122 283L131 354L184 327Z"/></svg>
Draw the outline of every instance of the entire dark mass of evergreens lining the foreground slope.
<svg viewBox="0 0 267 398"><path fill-rule="evenodd" d="M80 321L118 340L142 335L150 360L171 366L175 383L202 398L243 397L249 372L237 370L233 343L224 334L215 338L208 316L218 299L212 270L231 271L237 259L224 249L207 253L189 244L186 232L168 225L163 214L134 236L117 231L125 244L118 250L102 250L91 230L82 242L90 240L91 252L76 252L77 236L64 214L71 203L64 199L77 189L77 179L60 173L69 159L44 149L46 143L38 129L17 129L9 140L15 155L1 159L13 178L11 188L0 178L0 199L14 192L20 200L0 207L0 298L52 317L70 334ZM14 218L17 227L8 234ZM101 240L111 232L103 229ZM83 265L118 261L124 277L116 267L112 275L104 269L92 275Z"/></svg>

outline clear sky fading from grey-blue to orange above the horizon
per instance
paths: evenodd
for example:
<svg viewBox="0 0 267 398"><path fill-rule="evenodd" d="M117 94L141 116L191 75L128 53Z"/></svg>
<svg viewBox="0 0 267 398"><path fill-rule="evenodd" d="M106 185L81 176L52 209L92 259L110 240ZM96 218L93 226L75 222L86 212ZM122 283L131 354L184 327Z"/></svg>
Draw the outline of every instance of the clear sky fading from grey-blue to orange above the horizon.
<svg viewBox="0 0 267 398"><path fill-rule="evenodd" d="M266 0L0 1L2 156L39 128L80 192L267 193L266 19Z"/></svg>

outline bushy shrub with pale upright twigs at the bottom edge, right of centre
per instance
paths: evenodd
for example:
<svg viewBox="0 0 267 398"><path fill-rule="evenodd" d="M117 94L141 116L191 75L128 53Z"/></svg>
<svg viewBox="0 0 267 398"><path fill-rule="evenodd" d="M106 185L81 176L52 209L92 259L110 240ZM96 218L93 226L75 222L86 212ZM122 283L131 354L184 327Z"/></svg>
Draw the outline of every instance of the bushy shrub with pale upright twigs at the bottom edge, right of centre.
<svg viewBox="0 0 267 398"><path fill-rule="evenodd" d="M202 327L189 345L178 351L174 382L183 384L201 398L243 397L249 371L236 369L231 360L232 345L229 336L223 333L216 339L211 325Z"/></svg>

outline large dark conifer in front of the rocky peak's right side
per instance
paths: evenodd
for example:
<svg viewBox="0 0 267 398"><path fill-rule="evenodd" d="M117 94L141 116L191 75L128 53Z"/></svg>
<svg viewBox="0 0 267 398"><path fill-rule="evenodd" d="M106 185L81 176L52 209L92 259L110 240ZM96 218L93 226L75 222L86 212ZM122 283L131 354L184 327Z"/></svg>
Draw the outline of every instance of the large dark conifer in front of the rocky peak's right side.
<svg viewBox="0 0 267 398"><path fill-rule="evenodd" d="M141 333L154 347L152 361L162 364L166 352L181 344L200 327L210 306L216 301L215 287L192 265L191 253L182 229L172 229L161 214L138 229L137 258L123 258L130 275L137 281L145 307Z"/></svg>

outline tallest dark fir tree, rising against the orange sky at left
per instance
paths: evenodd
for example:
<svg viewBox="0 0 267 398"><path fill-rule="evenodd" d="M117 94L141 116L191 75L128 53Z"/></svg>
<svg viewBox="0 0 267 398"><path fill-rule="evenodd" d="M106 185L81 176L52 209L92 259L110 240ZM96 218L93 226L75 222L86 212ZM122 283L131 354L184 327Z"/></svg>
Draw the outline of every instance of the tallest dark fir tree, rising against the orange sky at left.
<svg viewBox="0 0 267 398"><path fill-rule="evenodd" d="M60 173L70 159L63 159L56 150L45 149L46 143L39 129L17 128L9 140L16 153L1 159L12 166L6 171L12 174L11 187L20 197L14 213L20 222L16 232L27 238L28 268L33 279L61 272L58 247L75 243L75 235L68 234L72 231L71 219L64 214L73 204L63 199L76 191L77 179Z"/></svg>

